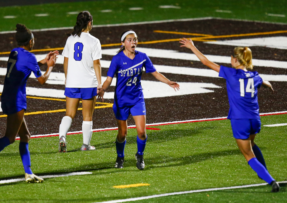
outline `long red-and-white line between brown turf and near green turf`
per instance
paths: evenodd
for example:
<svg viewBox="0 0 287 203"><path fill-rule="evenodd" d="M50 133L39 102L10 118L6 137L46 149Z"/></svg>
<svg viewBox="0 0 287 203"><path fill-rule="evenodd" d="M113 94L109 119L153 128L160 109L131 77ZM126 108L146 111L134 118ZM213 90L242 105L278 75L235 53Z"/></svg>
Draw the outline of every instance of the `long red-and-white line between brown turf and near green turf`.
<svg viewBox="0 0 287 203"><path fill-rule="evenodd" d="M287 114L287 111L284 112L271 112L271 113L263 113L260 114L260 116L272 116L272 115L280 115L280 114ZM166 122L166 123L152 123L152 124L147 124L146 126L163 126L163 125L172 125L172 124L181 124L181 123L193 123L193 122L204 122L204 121L215 121L215 120L226 120L226 117L224 118L207 118L207 119L199 119L199 120L187 120L187 121L178 121L178 122ZM128 128L135 128L135 126L130 126ZM96 129L93 130L93 132L103 132L103 131L108 131L108 130L117 130L118 128L106 128L106 129ZM148 130L161 130L160 128L149 128L146 127ZM70 132L70 134L82 134L82 132ZM36 135L32 136L31 138L40 138L40 137L53 137L53 136L59 136L59 134L46 134L46 135ZM16 138L16 140L20 140L20 138Z"/></svg>

